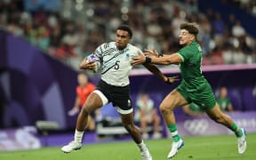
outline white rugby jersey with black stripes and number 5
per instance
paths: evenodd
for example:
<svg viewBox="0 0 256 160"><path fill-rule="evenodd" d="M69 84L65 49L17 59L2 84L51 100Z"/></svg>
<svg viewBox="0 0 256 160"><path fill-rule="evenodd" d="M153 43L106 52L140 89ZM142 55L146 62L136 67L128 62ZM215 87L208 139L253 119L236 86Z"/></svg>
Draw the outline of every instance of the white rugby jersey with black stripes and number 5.
<svg viewBox="0 0 256 160"><path fill-rule="evenodd" d="M115 86L130 84L132 57L143 54L138 47L132 44L127 44L124 50L118 50L115 42L101 44L93 53L100 58L101 79Z"/></svg>

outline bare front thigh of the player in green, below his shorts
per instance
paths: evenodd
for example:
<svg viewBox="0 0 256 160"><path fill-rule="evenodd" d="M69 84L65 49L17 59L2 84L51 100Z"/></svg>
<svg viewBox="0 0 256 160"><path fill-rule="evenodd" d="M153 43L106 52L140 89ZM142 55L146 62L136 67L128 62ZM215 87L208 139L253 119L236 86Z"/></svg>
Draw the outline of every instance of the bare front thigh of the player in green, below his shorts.
<svg viewBox="0 0 256 160"><path fill-rule="evenodd" d="M183 105L188 104L188 101L178 92L177 90L173 90L170 92L162 101L160 108L177 108Z"/></svg>

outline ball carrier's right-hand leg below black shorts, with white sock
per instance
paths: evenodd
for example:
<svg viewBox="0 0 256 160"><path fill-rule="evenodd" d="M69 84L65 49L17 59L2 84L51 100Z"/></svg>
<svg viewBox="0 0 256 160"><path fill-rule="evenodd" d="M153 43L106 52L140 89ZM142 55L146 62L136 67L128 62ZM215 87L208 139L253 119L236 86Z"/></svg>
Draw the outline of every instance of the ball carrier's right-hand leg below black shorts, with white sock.
<svg viewBox="0 0 256 160"><path fill-rule="evenodd" d="M144 141L141 138L140 129L133 123L133 113L130 114L121 114L122 123L127 132L130 133L134 142L140 148L140 155L143 160L152 160L152 156L150 155L148 148Z"/></svg>

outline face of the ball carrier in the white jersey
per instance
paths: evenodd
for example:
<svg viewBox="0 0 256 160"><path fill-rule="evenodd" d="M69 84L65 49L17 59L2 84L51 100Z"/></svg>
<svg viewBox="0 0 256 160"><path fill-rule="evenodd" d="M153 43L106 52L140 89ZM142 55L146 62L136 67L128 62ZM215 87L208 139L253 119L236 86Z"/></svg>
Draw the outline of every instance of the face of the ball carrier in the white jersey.
<svg viewBox="0 0 256 160"><path fill-rule="evenodd" d="M130 42L131 37L125 30L118 29L116 31L116 47L119 50L123 50L126 45Z"/></svg>

